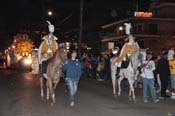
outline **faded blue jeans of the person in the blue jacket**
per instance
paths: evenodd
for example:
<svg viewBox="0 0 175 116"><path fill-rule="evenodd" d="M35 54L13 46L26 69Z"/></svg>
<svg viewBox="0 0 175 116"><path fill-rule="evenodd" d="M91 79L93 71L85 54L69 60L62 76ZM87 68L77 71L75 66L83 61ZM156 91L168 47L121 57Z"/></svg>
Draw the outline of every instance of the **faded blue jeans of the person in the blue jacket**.
<svg viewBox="0 0 175 116"><path fill-rule="evenodd" d="M74 102L78 81L76 79L66 78L66 83L69 88L69 100L70 102Z"/></svg>

